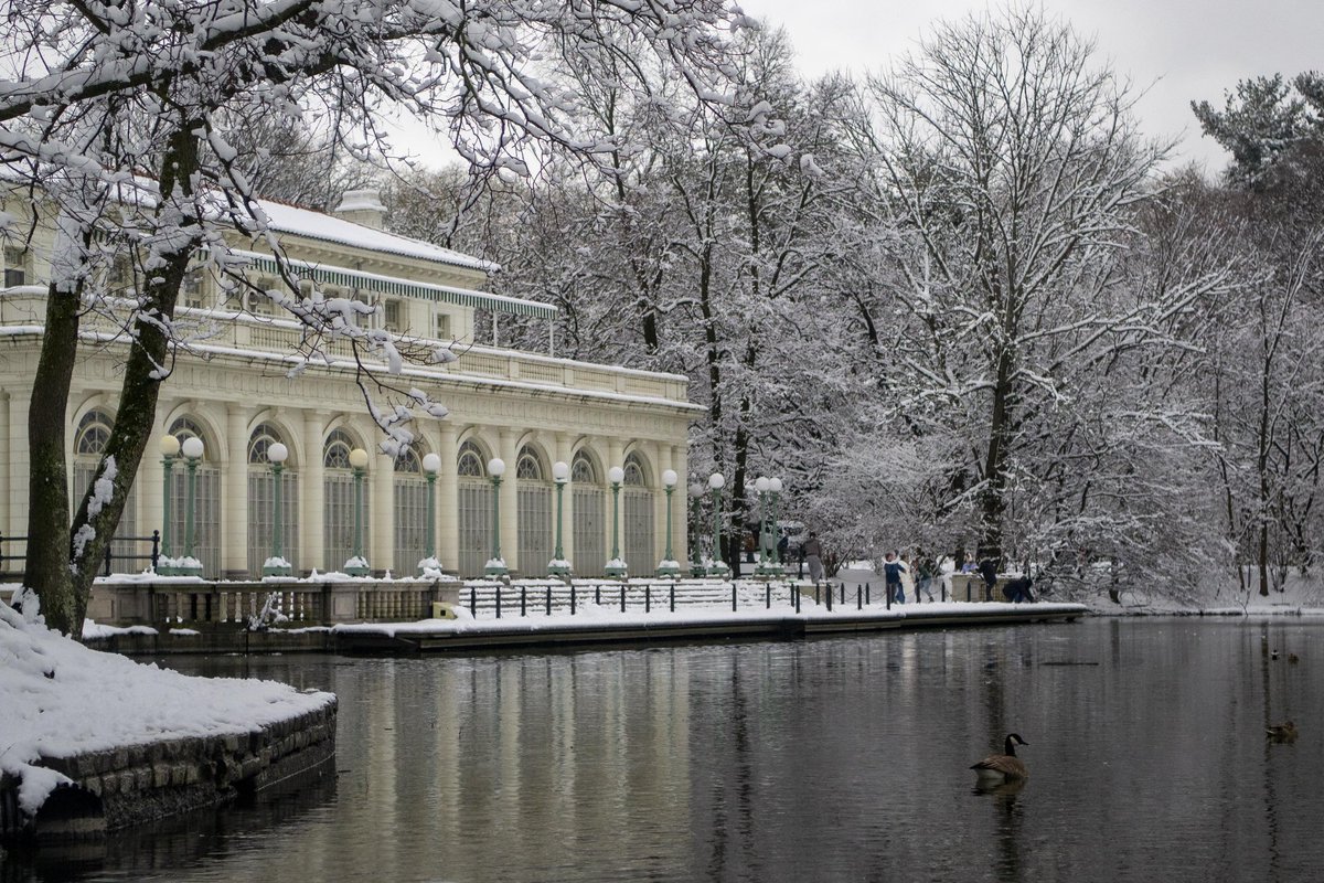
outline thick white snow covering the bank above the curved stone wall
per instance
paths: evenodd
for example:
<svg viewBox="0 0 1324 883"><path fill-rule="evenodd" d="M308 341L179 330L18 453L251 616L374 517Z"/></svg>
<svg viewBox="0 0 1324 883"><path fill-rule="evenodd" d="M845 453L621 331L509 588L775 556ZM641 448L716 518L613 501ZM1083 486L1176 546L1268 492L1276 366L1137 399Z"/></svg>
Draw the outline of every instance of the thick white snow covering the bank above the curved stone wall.
<svg viewBox="0 0 1324 883"><path fill-rule="evenodd" d="M21 778L28 814L68 781L42 769L42 757L246 733L332 700L273 680L191 678L90 650L0 601L0 772Z"/></svg>

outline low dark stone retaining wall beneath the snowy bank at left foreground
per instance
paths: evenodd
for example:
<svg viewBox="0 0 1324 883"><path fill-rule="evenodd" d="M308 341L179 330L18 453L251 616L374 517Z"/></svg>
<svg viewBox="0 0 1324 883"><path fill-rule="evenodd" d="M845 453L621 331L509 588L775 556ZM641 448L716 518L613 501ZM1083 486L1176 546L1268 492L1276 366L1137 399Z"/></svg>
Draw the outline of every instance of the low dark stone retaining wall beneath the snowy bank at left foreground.
<svg viewBox="0 0 1324 883"><path fill-rule="evenodd" d="M335 774L336 702L253 729L46 757L71 784L34 817L20 810L16 777L0 778L0 839L68 839L258 797L295 777Z"/></svg>

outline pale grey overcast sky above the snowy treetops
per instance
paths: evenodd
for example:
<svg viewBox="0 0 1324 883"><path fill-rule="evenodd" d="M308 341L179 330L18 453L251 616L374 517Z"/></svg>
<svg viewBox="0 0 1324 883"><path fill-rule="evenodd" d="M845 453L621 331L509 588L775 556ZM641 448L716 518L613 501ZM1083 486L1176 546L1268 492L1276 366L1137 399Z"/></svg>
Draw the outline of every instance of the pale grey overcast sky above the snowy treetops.
<svg viewBox="0 0 1324 883"><path fill-rule="evenodd" d="M997 8L984 0L740 0L745 13L781 24L806 77L846 68L886 69L937 19ZM1137 111L1155 136L1180 136L1180 159L1219 171L1226 154L1190 113L1192 99L1222 106L1223 91L1259 74L1324 68L1324 0L1042 0L1083 36L1100 61L1148 87Z"/></svg>

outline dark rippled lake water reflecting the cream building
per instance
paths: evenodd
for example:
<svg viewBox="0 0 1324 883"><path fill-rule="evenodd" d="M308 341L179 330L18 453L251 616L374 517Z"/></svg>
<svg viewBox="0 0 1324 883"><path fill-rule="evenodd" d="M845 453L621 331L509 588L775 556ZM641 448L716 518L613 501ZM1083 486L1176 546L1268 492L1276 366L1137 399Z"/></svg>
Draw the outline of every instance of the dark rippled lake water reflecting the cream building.
<svg viewBox="0 0 1324 883"><path fill-rule="evenodd" d="M340 696L335 781L11 880L1319 880L1324 624L168 659ZM1272 651L1279 658L1272 658ZM1300 663L1290 663L1298 653ZM1295 719L1295 744L1264 737ZM1029 781L968 767L1029 743ZM12 857L11 857L12 858Z"/></svg>

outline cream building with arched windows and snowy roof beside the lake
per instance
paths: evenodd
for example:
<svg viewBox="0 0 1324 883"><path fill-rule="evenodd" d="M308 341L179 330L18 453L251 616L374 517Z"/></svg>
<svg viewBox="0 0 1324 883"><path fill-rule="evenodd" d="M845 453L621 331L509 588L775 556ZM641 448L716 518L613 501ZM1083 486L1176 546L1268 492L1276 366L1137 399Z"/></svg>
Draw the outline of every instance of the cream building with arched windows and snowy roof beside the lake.
<svg viewBox="0 0 1324 883"><path fill-rule="evenodd" d="M0 187L5 187L0 184ZM0 535L26 530L28 408L45 318L49 228L30 218L26 191L4 191L3 210L17 218L4 238L0 285ZM686 475L686 436L696 408L686 379L559 359L495 343L499 316L522 314L556 320L549 304L483 291L491 263L381 229L376 196L356 192L326 214L263 203L271 229L303 278L323 291L377 306L371 323L425 346L455 342L449 364L406 368L409 384L449 409L442 420L410 426L416 441L405 455L377 451L381 433L367 414L355 384L348 344L330 342L330 364L310 361L291 373L301 327L258 295L226 295L207 274L191 277L176 320L207 328L163 384L159 436L197 436L204 454L196 469L195 548L204 576L256 577L270 553L274 482L267 447L282 442L283 553L295 573L340 569L352 553L355 478L350 454L371 455L363 478L363 551L376 573L408 576L424 557L428 487L426 454L436 453L437 557L461 577L483 572L494 548L493 507L499 507L506 565L542 576L553 553L552 465L571 466L563 492L563 548L583 576L597 576L612 553L613 506L609 469L624 482L616 526L621 557L632 573L654 571L665 552L667 507L661 477ZM0 233L3 236L3 233ZM252 253L246 273L262 287L278 287L269 256ZM131 279L131 275L128 275ZM130 282L131 283L131 282ZM487 318L493 331L487 332ZM477 320L477 322L475 322ZM69 401L71 499L91 479L97 455L117 409L119 365L127 344L122 324L105 310L82 320L81 360ZM343 348L343 352L338 351ZM507 463L494 502L487 463ZM144 455L119 536L144 536L164 516L164 466L155 449ZM185 470L172 470L172 551L185 528ZM671 515L674 555L686 556L685 500ZM128 552L131 544L117 543ZM21 553L7 544L5 553ZM139 552L140 545L139 545ZM117 561L115 569L142 569Z"/></svg>

